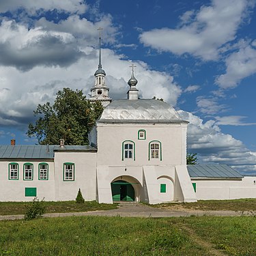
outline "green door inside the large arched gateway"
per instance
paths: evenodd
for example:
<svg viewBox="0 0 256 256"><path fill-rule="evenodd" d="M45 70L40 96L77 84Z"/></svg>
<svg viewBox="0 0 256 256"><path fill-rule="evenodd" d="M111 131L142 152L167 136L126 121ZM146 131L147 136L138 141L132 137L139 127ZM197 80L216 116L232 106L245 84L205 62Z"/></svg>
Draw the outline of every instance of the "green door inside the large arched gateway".
<svg viewBox="0 0 256 256"><path fill-rule="evenodd" d="M111 183L113 201L134 201L134 188L124 180Z"/></svg>

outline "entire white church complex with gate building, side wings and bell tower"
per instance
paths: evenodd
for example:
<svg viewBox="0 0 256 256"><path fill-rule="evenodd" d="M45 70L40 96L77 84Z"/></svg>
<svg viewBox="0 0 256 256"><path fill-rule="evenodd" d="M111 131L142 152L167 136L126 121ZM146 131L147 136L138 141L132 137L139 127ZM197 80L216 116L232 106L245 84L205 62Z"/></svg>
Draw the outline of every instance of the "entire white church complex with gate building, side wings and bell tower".
<svg viewBox="0 0 256 256"><path fill-rule="evenodd" d="M101 59L91 98L105 107L87 146L0 145L0 201L171 201L256 197L256 177L227 165L186 165L188 122L169 104L139 99L132 69L127 99L109 98Z"/></svg>

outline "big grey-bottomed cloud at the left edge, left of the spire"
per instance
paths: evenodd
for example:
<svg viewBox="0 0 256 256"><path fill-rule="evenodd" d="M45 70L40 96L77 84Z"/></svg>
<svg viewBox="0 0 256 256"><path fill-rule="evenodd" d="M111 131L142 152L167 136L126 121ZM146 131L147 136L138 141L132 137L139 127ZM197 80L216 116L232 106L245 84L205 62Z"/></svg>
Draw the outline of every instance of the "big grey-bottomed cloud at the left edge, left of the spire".
<svg viewBox="0 0 256 256"><path fill-rule="evenodd" d="M0 27L0 63L29 70L34 66L70 66L83 53L70 33L27 29L14 20L3 20Z"/></svg>

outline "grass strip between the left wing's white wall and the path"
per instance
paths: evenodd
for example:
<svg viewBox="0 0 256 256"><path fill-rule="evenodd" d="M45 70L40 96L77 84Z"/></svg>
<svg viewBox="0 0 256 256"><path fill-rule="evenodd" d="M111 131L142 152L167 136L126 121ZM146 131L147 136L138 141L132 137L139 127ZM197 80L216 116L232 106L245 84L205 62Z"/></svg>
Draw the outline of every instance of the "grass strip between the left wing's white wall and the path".
<svg viewBox="0 0 256 256"><path fill-rule="evenodd" d="M0 202L0 215L25 214L28 202ZM117 208L117 203L106 204L96 201L76 203L76 201L44 202L46 213L50 212L89 212L96 210L111 210Z"/></svg>

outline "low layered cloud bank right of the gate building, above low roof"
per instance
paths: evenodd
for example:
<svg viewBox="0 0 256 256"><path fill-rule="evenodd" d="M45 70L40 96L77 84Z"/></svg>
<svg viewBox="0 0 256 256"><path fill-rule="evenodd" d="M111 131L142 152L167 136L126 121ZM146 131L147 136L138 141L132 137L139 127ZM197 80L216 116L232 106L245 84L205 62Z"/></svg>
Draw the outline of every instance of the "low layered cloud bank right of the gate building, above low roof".
<svg viewBox="0 0 256 256"><path fill-rule="evenodd" d="M203 120L192 113L178 111L188 125L188 152L199 154L204 164L231 165L244 174L256 171L256 152L251 152L230 134L223 134L214 120Z"/></svg>

